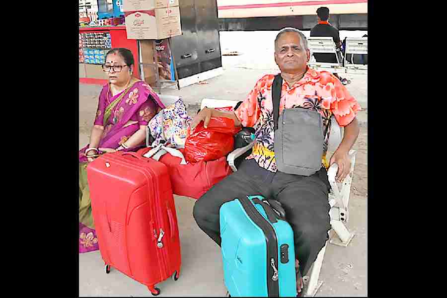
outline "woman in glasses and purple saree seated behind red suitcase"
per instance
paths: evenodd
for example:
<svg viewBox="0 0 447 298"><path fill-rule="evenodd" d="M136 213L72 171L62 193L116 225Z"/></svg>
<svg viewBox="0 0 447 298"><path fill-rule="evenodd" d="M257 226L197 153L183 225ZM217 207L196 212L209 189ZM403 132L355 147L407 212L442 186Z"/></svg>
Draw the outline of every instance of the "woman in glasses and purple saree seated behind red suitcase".
<svg viewBox="0 0 447 298"><path fill-rule="evenodd" d="M99 94L90 144L79 150L79 253L97 250L86 167L99 154L144 147L149 120L162 108L157 94L132 76L134 57L128 49L110 50L102 66L109 76Z"/></svg>

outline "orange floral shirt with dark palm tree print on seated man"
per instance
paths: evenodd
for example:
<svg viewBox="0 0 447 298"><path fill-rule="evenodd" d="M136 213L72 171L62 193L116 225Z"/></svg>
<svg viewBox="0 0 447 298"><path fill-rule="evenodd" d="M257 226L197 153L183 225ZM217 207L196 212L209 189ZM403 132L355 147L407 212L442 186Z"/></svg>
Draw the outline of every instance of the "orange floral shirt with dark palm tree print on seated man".
<svg viewBox="0 0 447 298"><path fill-rule="evenodd" d="M276 172L274 152L274 122L272 83L274 74L261 77L248 97L234 112L243 126L256 130L255 145L246 159L255 159L262 168ZM328 168L326 152L329 140L330 118L335 116L337 123L343 127L351 123L361 110L359 103L349 94L346 87L333 74L317 72L307 68L304 76L289 87L283 79L280 99L280 114L284 108L303 107L318 111L323 119L323 156L322 164Z"/></svg>

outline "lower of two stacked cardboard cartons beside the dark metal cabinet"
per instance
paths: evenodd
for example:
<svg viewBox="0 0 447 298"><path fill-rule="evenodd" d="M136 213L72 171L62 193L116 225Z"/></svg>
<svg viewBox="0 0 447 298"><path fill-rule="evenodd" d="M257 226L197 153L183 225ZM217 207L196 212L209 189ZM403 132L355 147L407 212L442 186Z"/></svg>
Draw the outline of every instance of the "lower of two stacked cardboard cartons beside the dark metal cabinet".
<svg viewBox="0 0 447 298"><path fill-rule="evenodd" d="M127 39L163 39L182 34L178 6L125 12Z"/></svg>

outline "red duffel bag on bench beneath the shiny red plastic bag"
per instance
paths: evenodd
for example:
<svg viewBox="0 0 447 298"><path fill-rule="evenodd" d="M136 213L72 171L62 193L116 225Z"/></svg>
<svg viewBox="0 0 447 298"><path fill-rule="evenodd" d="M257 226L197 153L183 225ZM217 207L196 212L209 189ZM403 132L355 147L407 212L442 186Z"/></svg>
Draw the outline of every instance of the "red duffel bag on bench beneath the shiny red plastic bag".
<svg viewBox="0 0 447 298"><path fill-rule="evenodd" d="M140 149L137 154L144 155L150 149L152 148ZM184 149L178 150L185 153ZM196 200L233 172L226 162L226 157L221 157L218 160L180 164L180 157L166 153L158 161L164 163L168 168L172 192L178 196Z"/></svg>

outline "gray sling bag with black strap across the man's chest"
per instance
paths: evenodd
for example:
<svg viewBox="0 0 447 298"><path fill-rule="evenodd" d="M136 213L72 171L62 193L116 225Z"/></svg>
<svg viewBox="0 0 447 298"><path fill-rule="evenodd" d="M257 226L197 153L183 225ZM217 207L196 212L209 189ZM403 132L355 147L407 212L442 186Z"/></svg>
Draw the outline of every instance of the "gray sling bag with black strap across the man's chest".
<svg viewBox="0 0 447 298"><path fill-rule="evenodd" d="M323 121L317 111L301 107L284 109L279 116L282 85L277 74L272 84L276 166L283 173L310 176L322 165Z"/></svg>

